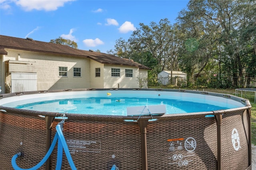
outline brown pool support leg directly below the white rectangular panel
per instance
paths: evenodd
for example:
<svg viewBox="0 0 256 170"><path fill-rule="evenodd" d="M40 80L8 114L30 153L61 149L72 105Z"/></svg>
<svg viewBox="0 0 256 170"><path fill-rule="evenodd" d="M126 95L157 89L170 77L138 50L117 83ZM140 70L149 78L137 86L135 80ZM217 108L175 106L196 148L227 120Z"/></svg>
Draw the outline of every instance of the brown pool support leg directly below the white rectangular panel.
<svg viewBox="0 0 256 170"><path fill-rule="evenodd" d="M140 136L141 136L141 157L142 157L142 170L148 170L148 159L147 159L147 125L148 119L138 120L140 126Z"/></svg>

